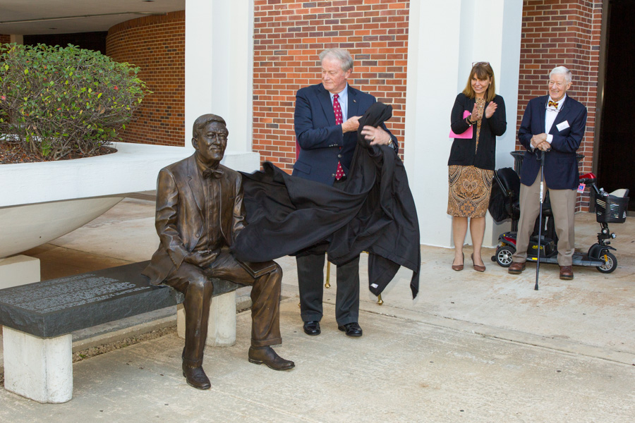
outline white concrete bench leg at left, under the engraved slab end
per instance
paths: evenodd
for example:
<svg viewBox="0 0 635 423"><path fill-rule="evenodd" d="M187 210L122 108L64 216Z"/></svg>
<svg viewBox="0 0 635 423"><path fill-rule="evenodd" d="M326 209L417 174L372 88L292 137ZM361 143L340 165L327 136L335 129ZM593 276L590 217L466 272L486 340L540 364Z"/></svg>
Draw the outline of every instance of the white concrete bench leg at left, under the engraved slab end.
<svg viewBox="0 0 635 423"><path fill-rule="evenodd" d="M73 398L73 338L40 338L4 326L4 387L38 403Z"/></svg>

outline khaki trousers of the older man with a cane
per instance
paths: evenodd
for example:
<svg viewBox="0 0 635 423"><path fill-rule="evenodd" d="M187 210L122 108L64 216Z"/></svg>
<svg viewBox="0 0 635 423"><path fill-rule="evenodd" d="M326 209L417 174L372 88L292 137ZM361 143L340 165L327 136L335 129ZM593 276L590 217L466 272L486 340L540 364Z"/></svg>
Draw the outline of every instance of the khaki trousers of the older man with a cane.
<svg viewBox="0 0 635 423"><path fill-rule="evenodd" d="M558 235L558 264L571 266L571 257L575 250L576 190L548 190ZM543 192L543 195L546 195L546 192ZM529 237L540 214L540 173L531 186L521 183L520 209L516 253L512 256L512 261L524 263L527 259Z"/></svg>

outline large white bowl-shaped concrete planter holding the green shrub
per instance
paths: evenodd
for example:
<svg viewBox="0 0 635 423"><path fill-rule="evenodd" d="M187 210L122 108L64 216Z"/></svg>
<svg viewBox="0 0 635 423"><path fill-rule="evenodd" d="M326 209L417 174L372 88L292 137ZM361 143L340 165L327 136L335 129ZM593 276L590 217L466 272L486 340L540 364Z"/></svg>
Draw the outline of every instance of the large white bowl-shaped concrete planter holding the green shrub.
<svg viewBox="0 0 635 423"><path fill-rule="evenodd" d="M65 235L106 212L128 192L154 190L161 168L193 149L117 142L114 154L0 165L0 258ZM253 171L257 153L226 152L226 166Z"/></svg>

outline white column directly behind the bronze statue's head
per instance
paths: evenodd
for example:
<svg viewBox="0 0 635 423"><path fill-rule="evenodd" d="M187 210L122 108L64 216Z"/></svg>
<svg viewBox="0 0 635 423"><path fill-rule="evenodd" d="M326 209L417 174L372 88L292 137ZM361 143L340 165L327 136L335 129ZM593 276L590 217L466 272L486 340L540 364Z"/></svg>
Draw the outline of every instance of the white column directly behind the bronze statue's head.
<svg viewBox="0 0 635 423"><path fill-rule="evenodd" d="M186 147L195 119L217 114L229 129L227 155L248 154L250 170L260 167L252 93L253 1L186 0Z"/></svg>

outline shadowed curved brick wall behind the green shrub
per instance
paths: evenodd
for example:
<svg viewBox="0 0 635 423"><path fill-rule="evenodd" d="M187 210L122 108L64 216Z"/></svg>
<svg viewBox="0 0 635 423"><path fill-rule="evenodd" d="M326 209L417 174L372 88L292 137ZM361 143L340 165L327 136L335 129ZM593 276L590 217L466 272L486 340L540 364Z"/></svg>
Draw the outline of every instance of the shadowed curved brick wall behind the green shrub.
<svg viewBox="0 0 635 423"><path fill-rule="evenodd" d="M123 140L183 146L185 139L185 11L128 20L108 31L106 54L139 66L153 92L126 126Z"/></svg>

